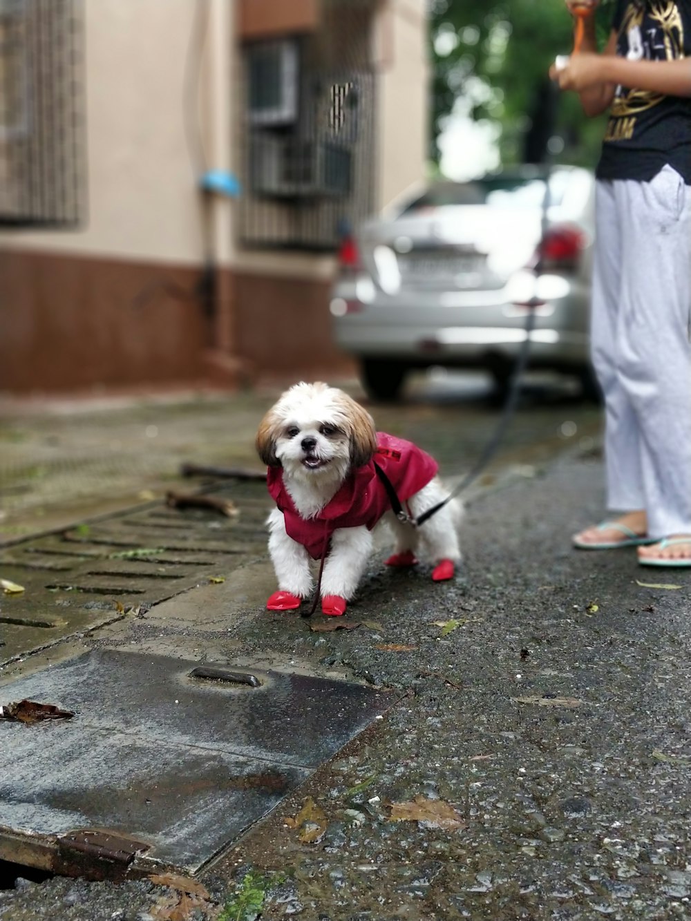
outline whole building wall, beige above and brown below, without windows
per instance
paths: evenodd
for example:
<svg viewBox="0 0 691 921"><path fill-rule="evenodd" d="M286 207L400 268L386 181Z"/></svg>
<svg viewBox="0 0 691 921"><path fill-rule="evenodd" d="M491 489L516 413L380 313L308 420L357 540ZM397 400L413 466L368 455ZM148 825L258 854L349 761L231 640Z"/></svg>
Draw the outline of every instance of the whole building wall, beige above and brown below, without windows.
<svg viewBox="0 0 691 921"><path fill-rule="evenodd" d="M261 26L242 2L253 18L240 0L84 0L88 215L77 231L0 231L0 390L352 373L328 313L334 257L240 250L236 203L198 188L240 163L238 28ZM289 2L260 6L283 22ZM424 175L424 3L378 4L380 207ZM290 21L315 4L296 0Z"/></svg>

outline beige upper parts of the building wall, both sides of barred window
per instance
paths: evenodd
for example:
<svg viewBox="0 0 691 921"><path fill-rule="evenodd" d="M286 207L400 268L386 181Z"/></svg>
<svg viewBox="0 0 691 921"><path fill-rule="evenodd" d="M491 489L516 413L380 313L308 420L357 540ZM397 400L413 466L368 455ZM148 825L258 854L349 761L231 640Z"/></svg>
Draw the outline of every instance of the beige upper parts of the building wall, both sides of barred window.
<svg viewBox="0 0 691 921"><path fill-rule="evenodd" d="M378 17L381 207L424 176L424 3L389 0ZM85 12L85 227L76 233L2 233L0 239L22 249L198 263L205 215L197 188L204 165L196 148L202 146L209 169L232 169L238 157L231 140L240 121L240 99L232 88L239 56L235 0L210 0L208 6L193 0L85 0ZM194 86L198 97L191 93ZM230 265L238 261L232 202L216 199L211 209L218 261ZM318 278L333 268L328 257L280 252L245 252L240 262L243 271Z"/></svg>

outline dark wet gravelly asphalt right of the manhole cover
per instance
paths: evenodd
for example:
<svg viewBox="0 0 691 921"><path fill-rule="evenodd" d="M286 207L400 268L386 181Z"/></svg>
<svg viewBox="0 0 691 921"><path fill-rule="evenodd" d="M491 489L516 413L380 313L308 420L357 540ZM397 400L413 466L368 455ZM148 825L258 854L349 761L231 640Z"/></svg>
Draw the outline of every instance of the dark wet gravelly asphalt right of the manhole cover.
<svg viewBox="0 0 691 921"><path fill-rule="evenodd" d="M239 658L343 668L390 689L392 707L202 874L209 900L186 916L213 916L248 870L266 880L263 918L691 916L691 577L632 551L571 551L569 533L601 517L601 480L600 461L571 456L478 497L451 585L384 571L380 554L348 615L379 627L228 624ZM451 620L442 636L434 622ZM412 648L378 648L391 644ZM324 817L314 843L286 822L307 798ZM391 821L416 798L451 804L461 825ZM19 883L0 891L0 918L148 921L166 892Z"/></svg>

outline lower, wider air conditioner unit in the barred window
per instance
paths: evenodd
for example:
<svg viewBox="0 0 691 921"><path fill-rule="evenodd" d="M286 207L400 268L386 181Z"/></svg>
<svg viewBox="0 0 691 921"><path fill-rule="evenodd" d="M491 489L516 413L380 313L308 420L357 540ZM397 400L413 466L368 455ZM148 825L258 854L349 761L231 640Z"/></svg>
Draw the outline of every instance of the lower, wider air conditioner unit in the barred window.
<svg viewBox="0 0 691 921"><path fill-rule="evenodd" d="M270 198L347 195L350 150L324 140L258 132L252 137L252 192Z"/></svg>

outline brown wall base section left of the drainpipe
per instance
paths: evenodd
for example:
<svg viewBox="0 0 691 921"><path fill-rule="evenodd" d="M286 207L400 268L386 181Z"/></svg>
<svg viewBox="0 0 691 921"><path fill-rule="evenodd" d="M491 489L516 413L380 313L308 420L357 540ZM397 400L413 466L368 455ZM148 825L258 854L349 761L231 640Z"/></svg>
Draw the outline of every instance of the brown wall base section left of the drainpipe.
<svg viewBox="0 0 691 921"><path fill-rule="evenodd" d="M0 253L0 390L75 391L196 379L209 342L174 266Z"/></svg>

